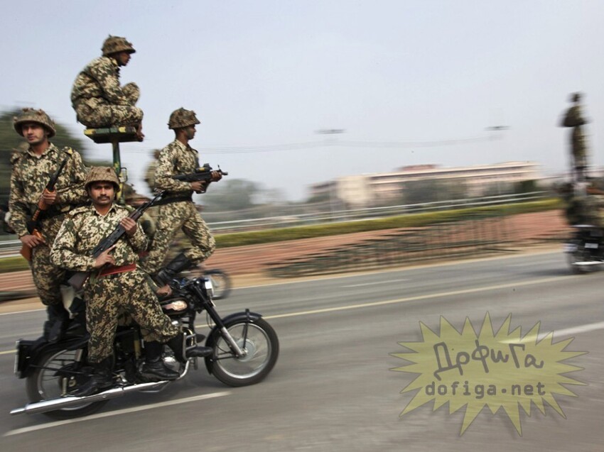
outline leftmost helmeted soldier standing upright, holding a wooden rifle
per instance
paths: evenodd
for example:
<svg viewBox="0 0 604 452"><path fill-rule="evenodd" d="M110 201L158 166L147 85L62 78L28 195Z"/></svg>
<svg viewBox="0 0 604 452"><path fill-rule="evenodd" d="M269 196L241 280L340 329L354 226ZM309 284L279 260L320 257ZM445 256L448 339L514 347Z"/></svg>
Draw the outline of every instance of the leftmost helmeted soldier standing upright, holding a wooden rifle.
<svg viewBox="0 0 604 452"><path fill-rule="evenodd" d="M44 335L56 341L67 326L69 314L63 307L60 282L65 271L50 262L50 246L65 214L86 202L84 181L87 170L79 153L59 149L48 138L55 136L55 123L43 110L23 109L13 121L16 133L25 138L26 147L11 158L10 224L26 248L31 248L31 272L36 290L48 312ZM66 159L53 192L45 190L50 175ZM38 217L39 235L28 227L38 202L46 209Z"/></svg>

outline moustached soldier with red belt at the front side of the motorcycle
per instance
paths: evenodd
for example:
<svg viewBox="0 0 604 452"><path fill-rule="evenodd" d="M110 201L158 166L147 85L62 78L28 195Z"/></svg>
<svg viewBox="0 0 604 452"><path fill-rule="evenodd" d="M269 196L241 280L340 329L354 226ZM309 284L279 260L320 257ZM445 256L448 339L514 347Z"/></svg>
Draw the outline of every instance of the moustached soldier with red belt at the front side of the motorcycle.
<svg viewBox="0 0 604 452"><path fill-rule="evenodd" d="M139 268L137 253L146 249L147 239L129 211L114 202L119 180L111 167L93 167L85 182L92 205L74 209L57 234L50 257L68 270L94 272L84 287L86 302L88 362L95 372L85 385L72 392L77 397L93 395L113 385L112 358L118 316L128 313L140 326L145 339L148 378L175 380L178 372L161 360L161 342L173 349L176 358L202 357L212 353L198 346L185 351L185 337L161 310L158 300ZM97 258L92 250L120 224L126 233Z"/></svg>

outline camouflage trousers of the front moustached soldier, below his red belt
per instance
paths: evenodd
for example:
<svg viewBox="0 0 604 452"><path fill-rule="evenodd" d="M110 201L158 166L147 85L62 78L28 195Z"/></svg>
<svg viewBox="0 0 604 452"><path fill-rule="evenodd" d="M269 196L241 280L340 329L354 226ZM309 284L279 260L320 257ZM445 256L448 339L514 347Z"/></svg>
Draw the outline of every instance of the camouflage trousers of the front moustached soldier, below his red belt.
<svg viewBox="0 0 604 452"><path fill-rule="evenodd" d="M166 342L180 333L162 312L146 278L141 270L90 278L84 292L90 363L112 355L118 319L124 313L141 326L145 341Z"/></svg>

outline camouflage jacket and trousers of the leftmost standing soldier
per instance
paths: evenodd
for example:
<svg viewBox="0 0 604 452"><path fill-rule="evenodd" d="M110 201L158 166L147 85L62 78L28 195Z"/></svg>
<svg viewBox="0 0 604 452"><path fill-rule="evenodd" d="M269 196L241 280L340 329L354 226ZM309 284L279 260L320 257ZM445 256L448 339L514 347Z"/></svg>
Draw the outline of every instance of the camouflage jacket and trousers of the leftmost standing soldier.
<svg viewBox="0 0 604 452"><path fill-rule="evenodd" d="M50 262L50 246L55 240L67 211L72 206L88 200L84 189L87 170L79 153L70 148L59 150L53 144L50 144L39 158L31 148L28 148L23 153L14 153L11 159L13 170L9 199L10 224L15 233L21 237L29 234L27 221L36 211L38 199L40 199L50 176L56 172L60 162L66 156L69 156L68 162L55 185L59 202L49 206L41 215L40 232L45 244L33 248L31 254L33 281L36 284L38 296L45 305L63 302L60 283L63 281L65 271Z"/></svg>

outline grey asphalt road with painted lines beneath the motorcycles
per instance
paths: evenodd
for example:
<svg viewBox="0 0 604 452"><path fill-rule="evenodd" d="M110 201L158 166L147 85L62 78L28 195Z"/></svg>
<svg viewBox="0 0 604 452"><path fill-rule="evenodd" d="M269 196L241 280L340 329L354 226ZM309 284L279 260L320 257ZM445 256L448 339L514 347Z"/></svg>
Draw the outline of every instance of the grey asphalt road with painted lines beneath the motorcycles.
<svg viewBox="0 0 604 452"><path fill-rule="evenodd" d="M37 336L44 315L3 314L0 451L602 451L603 290L604 272L571 275L559 252L237 289L220 312L249 307L279 335L264 382L225 387L200 368L72 421L9 415L27 402L12 373L14 341ZM399 417L414 394L401 390L415 377L392 370L406 364L392 355L408 351L399 342L422 341L420 322L438 333L441 316L458 331L468 317L478 332L487 312L495 330L511 314L511 330L525 335L541 322L554 343L574 338L566 351L588 352L566 361L583 368L567 375L586 385L566 385L576 397L556 395L563 415L548 404L545 414L521 410L522 436L497 407L463 434L463 407L449 414L430 401Z"/></svg>

